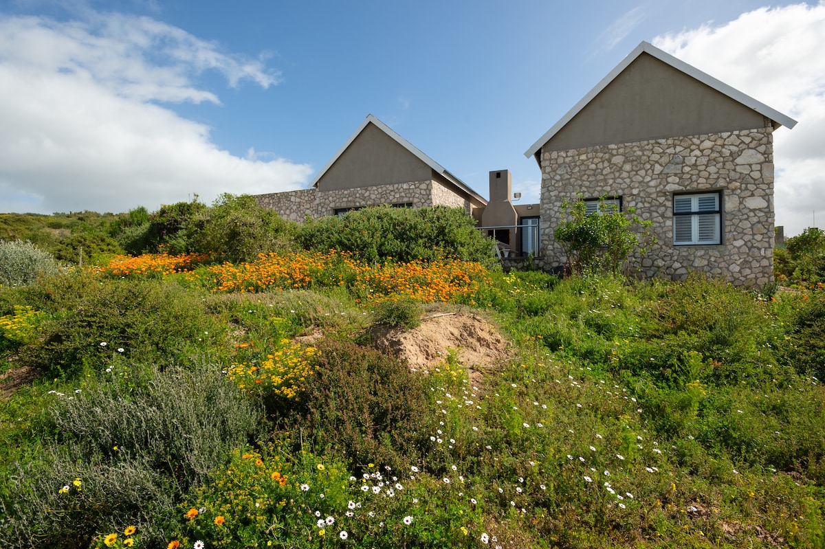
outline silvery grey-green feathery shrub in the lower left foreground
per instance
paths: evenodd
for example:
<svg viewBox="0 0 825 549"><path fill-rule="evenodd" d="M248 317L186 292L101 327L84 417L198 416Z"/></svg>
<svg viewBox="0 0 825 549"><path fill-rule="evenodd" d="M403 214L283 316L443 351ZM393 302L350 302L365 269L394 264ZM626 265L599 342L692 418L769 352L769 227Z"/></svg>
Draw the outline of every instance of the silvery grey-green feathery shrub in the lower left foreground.
<svg viewBox="0 0 825 549"><path fill-rule="evenodd" d="M187 491L262 434L262 411L219 366L129 380L132 372L120 364L100 389L54 393L57 436L40 461L19 465L0 498L3 547L37 539L41 547L79 549L129 524L146 547L166 547Z"/></svg>

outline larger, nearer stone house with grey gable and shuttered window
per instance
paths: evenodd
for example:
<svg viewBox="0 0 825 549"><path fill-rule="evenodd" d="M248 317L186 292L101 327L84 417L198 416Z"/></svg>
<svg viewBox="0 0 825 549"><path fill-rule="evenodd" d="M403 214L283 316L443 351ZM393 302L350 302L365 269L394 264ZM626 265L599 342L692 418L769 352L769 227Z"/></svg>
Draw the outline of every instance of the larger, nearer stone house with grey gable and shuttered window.
<svg viewBox="0 0 825 549"><path fill-rule="evenodd" d="M642 42L526 152L541 169L540 256L563 199L606 197L653 221L640 275L773 281L775 129L796 121ZM588 204L589 206L589 204Z"/></svg>

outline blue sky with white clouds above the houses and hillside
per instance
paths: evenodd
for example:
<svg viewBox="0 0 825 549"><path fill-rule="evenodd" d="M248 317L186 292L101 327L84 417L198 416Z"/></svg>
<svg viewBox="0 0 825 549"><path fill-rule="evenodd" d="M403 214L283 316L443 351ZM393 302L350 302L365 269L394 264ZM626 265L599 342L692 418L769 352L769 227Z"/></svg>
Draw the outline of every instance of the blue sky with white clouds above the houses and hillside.
<svg viewBox="0 0 825 549"><path fill-rule="evenodd" d="M0 212L299 189L368 114L538 201L523 152L641 40L799 120L776 224L825 226L825 3L752 0L0 0Z"/></svg>

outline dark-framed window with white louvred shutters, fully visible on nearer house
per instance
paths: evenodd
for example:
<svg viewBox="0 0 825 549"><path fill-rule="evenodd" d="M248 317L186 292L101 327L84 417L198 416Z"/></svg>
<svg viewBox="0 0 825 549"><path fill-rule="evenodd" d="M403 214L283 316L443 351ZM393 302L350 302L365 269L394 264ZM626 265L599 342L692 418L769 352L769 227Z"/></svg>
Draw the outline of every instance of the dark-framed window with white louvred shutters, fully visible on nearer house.
<svg viewBox="0 0 825 549"><path fill-rule="evenodd" d="M673 244L722 243L722 194L673 195Z"/></svg>

